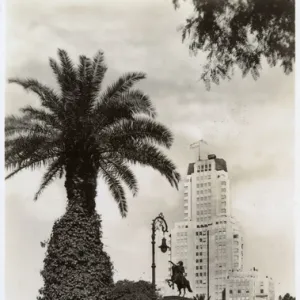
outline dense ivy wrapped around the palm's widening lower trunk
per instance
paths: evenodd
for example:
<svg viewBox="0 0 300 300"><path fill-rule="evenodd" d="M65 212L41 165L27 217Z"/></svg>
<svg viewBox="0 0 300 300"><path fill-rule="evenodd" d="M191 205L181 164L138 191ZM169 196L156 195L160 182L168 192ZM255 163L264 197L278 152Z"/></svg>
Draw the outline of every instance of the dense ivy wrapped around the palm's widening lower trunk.
<svg viewBox="0 0 300 300"><path fill-rule="evenodd" d="M78 205L55 222L38 300L99 300L112 288L113 269L103 250L100 226L96 212L89 216Z"/></svg>

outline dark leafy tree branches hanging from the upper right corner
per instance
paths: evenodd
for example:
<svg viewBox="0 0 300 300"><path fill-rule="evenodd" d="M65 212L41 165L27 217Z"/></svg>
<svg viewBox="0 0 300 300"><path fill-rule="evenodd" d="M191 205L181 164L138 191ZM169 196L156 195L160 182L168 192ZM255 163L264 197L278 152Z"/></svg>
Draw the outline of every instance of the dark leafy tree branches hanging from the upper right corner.
<svg viewBox="0 0 300 300"><path fill-rule="evenodd" d="M175 8L179 0L173 0ZM201 79L231 79L239 68L242 76L259 77L262 59L280 63L284 73L295 62L294 0L192 0L194 14L182 27L183 41L192 53L206 54Z"/></svg>

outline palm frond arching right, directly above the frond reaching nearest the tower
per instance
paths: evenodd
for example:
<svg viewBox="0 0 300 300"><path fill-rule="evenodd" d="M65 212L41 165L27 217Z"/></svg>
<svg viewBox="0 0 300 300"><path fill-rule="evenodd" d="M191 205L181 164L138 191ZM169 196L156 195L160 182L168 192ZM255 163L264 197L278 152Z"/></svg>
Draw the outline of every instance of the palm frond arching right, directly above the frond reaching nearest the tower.
<svg viewBox="0 0 300 300"><path fill-rule="evenodd" d="M107 140L116 148L123 143L149 142L170 148L173 143L172 133L164 125L148 118L123 119L107 126L99 133L99 139Z"/></svg>

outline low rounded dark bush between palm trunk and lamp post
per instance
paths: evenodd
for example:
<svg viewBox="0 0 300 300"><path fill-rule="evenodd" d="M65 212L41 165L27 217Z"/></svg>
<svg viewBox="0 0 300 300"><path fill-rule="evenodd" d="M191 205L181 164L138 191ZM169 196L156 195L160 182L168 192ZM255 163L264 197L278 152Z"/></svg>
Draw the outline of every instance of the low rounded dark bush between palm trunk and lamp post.
<svg viewBox="0 0 300 300"><path fill-rule="evenodd" d="M150 282L146 281L118 281L107 294L106 300L152 300L162 299L157 291L153 289Z"/></svg>

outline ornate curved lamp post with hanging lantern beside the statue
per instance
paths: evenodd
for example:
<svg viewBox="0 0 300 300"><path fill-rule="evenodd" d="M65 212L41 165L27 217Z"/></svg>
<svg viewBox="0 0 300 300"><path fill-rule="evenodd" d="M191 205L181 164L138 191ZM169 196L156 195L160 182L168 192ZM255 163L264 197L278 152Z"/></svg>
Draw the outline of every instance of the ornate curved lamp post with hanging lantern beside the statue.
<svg viewBox="0 0 300 300"><path fill-rule="evenodd" d="M162 213L160 213L154 220L152 220L152 285L155 289L156 282L155 282L155 237L156 237L156 231L161 229L163 234L168 232L168 224L165 220L165 217ZM167 240L165 237L162 238L161 245L159 246L162 253L166 253L167 250L170 248L167 245Z"/></svg>

